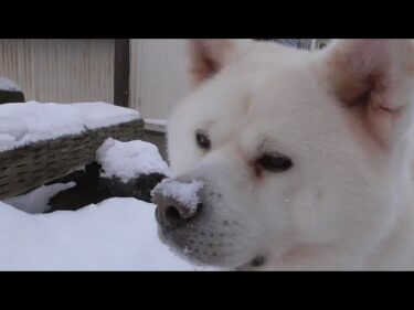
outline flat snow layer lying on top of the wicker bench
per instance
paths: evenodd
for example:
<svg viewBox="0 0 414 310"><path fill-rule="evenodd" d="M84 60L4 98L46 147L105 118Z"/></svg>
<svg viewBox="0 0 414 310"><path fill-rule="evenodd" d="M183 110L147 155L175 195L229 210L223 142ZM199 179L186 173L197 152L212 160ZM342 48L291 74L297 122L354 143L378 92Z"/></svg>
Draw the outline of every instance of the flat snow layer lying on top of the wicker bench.
<svg viewBox="0 0 414 310"><path fill-rule="evenodd" d="M0 151L128 122L139 117L137 110L105 103L4 104L0 106Z"/></svg>

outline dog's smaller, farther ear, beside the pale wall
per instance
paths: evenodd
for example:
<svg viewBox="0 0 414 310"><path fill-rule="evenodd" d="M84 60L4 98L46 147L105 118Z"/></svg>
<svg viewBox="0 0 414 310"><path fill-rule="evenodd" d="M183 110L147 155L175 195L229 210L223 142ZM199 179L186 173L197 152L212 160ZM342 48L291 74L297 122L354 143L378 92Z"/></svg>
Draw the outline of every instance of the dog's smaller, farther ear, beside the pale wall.
<svg viewBox="0 0 414 310"><path fill-rule="evenodd" d="M250 40L190 40L190 77L193 86L212 77L236 57Z"/></svg>

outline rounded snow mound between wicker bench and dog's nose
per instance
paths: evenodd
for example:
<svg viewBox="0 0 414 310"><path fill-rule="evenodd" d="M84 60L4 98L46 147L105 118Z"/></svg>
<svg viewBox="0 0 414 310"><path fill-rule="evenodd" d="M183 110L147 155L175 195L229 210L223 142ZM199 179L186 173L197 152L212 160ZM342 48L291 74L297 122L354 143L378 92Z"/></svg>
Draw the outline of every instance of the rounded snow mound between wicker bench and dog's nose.
<svg viewBox="0 0 414 310"><path fill-rule="evenodd" d="M104 170L102 177L118 177L123 182L141 174L170 175L167 162L162 160L158 148L140 140L120 142L108 138L96 151L96 161Z"/></svg>

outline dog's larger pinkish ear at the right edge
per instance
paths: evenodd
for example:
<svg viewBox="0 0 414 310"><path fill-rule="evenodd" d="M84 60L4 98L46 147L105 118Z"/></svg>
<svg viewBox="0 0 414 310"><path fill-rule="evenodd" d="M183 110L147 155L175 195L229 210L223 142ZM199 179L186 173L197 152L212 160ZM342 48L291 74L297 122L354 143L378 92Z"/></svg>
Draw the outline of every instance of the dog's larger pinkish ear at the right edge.
<svg viewBox="0 0 414 310"><path fill-rule="evenodd" d="M389 143L407 129L414 73L410 40L336 40L323 53L335 95L363 113L376 139Z"/></svg>

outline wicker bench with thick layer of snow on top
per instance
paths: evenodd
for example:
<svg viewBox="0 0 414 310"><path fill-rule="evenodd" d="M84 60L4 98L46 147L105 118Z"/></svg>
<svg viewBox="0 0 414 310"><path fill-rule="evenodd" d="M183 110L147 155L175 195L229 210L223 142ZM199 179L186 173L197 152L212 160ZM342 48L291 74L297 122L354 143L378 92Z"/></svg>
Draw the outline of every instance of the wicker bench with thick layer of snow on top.
<svg viewBox="0 0 414 310"><path fill-rule="evenodd" d="M108 137L129 141L142 136L138 111L105 103L0 105L0 199L92 162Z"/></svg>

